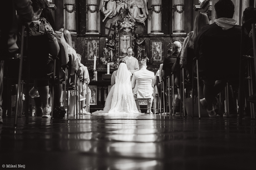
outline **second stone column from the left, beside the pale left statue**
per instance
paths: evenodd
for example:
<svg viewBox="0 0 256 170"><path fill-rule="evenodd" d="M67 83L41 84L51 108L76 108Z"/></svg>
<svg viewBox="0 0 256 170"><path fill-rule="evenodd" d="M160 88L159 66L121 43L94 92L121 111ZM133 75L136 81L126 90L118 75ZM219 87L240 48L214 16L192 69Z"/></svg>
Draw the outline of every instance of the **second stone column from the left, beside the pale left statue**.
<svg viewBox="0 0 256 170"><path fill-rule="evenodd" d="M99 34L97 30L97 13L99 6L97 0L87 0L87 32L86 34Z"/></svg>

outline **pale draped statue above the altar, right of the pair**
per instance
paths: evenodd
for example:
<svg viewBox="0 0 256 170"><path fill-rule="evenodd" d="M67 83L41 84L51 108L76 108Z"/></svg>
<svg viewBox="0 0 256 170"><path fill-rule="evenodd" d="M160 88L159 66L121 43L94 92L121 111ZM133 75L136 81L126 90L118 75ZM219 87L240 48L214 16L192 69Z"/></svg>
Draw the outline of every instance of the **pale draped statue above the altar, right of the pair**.
<svg viewBox="0 0 256 170"><path fill-rule="evenodd" d="M145 20L149 12L147 11L147 0L130 0L131 17L138 23L145 25Z"/></svg>

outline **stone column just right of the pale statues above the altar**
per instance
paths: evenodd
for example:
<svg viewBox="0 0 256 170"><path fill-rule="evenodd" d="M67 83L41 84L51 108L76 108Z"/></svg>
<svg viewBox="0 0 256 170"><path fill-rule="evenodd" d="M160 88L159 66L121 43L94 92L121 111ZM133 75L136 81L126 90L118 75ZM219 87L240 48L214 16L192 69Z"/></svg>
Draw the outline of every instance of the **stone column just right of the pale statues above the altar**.
<svg viewBox="0 0 256 170"><path fill-rule="evenodd" d="M162 0L152 0L151 2L151 33L162 33Z"/></svg>

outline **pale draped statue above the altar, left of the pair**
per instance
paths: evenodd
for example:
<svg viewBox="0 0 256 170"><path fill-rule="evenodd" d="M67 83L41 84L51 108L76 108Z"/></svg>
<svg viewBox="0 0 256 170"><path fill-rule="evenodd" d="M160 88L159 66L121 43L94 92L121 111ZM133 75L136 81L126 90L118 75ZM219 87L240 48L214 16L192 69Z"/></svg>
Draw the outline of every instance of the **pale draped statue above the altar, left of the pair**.
<svg viewBox="0 0 256 170"><path fill-rule="evenodd" d="M101 10L101 12L105 15L105 18L102 20L102 22L104 22L107 17L112 18L116 16L116 13L117 13L116 1L101 0L99 10Z"/></svg>

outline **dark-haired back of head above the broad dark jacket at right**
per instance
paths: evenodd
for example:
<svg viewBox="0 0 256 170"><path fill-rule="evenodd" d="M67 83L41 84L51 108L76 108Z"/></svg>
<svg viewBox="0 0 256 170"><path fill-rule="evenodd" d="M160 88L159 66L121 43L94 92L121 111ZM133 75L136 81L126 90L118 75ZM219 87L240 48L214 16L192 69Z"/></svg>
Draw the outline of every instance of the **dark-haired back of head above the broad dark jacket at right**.
<svg viewBox="0 0 256 170"><path fill-rule="evenodd" d="M233 18L235 12L234 3L231 0L219 0L214 5L216 19Z"/></svg>

